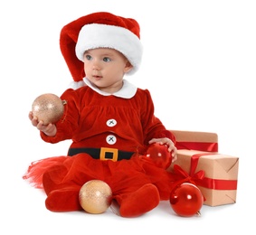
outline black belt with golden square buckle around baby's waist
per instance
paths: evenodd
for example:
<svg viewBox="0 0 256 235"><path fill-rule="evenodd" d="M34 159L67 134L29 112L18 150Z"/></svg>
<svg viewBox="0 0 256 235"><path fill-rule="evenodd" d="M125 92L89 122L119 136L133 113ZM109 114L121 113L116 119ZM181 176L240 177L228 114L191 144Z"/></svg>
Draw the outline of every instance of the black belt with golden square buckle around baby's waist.
<svg viewBox="0 0 256 235"><path fill-rule="evenodd" d="M109 147L100 147L100 148L91 148L91 147L76 147L70 148L68 155L77 155L85 153L90 155L94 159L100 160L112 160L114 162L130 159L130 157L134 154L132 152L121 151L117 148L109 148Z"/></svg>

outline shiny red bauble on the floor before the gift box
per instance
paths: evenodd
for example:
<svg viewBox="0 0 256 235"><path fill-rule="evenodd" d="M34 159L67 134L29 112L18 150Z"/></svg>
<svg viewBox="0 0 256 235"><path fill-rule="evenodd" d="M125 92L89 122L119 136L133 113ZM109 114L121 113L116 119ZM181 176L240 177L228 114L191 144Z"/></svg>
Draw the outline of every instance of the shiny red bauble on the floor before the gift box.
<svg viewBox="0 0 256 235"><path fill-rule="evenodd" d="M170 204L176 214L190 217L200 214L204 196L193 183L181 183L170 195Z"/></svg>

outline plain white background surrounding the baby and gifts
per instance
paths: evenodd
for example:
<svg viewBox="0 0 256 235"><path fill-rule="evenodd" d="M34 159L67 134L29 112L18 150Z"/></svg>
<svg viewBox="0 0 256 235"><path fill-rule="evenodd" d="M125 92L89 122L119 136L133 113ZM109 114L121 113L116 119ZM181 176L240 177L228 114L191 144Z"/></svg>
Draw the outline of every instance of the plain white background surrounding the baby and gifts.
<svg viewBox="0 0 256 235"><path fill-rule="evenodd" d="M109 11L135 18L144 57L128 78L149 89L167 128L215 132L219 152L240 158L237 202L176 216L168 202L134 219L112 211L54 213L22 179L34 160L65 155L69 141L44 143L27 118L33 99L61 95L71 75L59 48L62 26ZM232 234L255 232L255 1L2 1L1 234Z"/></svg>

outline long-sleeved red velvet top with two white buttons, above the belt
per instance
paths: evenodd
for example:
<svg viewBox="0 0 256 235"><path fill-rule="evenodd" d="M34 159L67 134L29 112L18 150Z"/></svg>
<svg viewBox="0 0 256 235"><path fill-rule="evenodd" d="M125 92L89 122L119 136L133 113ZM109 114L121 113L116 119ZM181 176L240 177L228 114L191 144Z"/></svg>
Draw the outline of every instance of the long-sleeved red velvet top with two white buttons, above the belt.
<svg viewBox="0 0 256 235"><path fill-rule="evenodd" d="M125 84L132 86L128 81ZM169 137L175 142L154 116L148 90L137 89L135 96L126 99L115 95L103 97L84 86L66 90L61 99L67 101L64 118L57 123L56 136L42 133L46 142L72 139L71 148L110 147L139 154L144 154L145 145L153 137Z"/></svg>

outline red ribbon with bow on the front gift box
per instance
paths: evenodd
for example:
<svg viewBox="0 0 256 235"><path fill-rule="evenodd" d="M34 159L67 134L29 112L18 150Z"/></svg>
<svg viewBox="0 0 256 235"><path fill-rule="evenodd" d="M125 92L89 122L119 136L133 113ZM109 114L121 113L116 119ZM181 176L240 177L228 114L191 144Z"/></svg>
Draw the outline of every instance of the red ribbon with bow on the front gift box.
<svg viewBox="0 0 256 235"><path fill-rule="evenodd" d="M211 154L196 154L191 157L191 165L190 172L187 174L185 170L183 170L179 165L174 165L174 170L176 174L183 175L189 181L194 181L194 183L198 186L202 186L204 188L214 189L214 190L236 190L237 189L237 180L219 180L219 179L211 179L204 176L204 171L198 171L195 173L195 169L197 167L199 158L204 155L214 155Z"/></svg>

